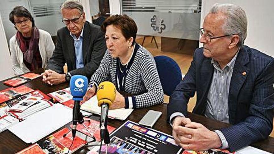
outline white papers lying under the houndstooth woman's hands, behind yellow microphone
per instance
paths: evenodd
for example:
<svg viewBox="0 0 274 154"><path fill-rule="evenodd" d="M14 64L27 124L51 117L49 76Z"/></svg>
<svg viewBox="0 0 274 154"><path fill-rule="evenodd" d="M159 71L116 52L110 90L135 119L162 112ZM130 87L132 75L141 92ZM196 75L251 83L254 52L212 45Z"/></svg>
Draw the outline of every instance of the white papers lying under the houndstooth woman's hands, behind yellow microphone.
<svg viewBox="0 0 274 154"><path fill-rule="evenodd" d="M98 100L96 95L83 103L80 109L94 114L101 114L101 107L98 106ZM108 117L111 119L125 120L132 111L133 109L125 108L108 110Z"/></svg>

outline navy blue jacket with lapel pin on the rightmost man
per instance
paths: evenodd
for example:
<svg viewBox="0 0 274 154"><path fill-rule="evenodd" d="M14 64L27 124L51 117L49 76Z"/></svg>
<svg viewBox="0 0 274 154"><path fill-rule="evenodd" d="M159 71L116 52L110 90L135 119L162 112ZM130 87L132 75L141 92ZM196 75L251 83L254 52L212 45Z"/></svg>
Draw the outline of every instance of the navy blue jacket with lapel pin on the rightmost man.
<svg viewBox="0 0 274 154"><path fill-rule="evenodd" d="M206 98L214 67L211 58L196 49L191 66L177 85L168 104L167 120L174 112L187 116L187 103L197 92L193 113L205 114ZM243 72L246 72L243 73ZM235 61L228 97L229 123L233 126L220 131L228 141L229 151L235 151L272 131L274 109L274 59L262 52L242 46Z"/></svg>

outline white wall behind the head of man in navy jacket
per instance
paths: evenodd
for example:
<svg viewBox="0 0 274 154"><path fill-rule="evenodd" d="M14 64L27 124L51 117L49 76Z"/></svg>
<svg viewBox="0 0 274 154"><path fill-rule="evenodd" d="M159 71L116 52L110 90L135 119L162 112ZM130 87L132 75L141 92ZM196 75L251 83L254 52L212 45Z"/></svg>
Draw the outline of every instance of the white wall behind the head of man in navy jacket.
<svg viewBox="0 0 274 154"><path fill-rule="evenodd" d="M273 0L202 0L201 27L205 15L215 3L233 3L242 7L248 18L248 35L245 45L274 56Z"/></svg>

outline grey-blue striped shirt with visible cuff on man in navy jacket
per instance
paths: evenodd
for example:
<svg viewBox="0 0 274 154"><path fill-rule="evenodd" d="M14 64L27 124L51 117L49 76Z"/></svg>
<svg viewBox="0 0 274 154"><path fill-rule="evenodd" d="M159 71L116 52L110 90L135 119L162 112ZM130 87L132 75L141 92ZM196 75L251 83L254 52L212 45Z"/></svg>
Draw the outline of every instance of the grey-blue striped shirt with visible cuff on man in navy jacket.
<svg viewBox="0 0 274 154"><path fill-rule="evenodd" d="M223 69L215 60L211 59L211 63L214 66L214 72L210 89L207 94L207 104L205 110L205 116L210 119L229 123L229 111L228 111L228 94L229 85L233 73L234 64L239 51L231 59L231 61L224 66ZM222 148L228 148L228 142L224 137L224 134L215 130L222 142Z"/></svg>

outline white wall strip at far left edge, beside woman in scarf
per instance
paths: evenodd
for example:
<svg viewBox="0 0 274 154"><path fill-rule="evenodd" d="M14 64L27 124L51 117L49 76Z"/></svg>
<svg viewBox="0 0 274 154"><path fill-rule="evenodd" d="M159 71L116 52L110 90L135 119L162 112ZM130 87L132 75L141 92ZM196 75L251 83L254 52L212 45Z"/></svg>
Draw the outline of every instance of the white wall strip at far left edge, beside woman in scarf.
<svg viewBox="0 0 274 154"><path fill-rule="evenodd" d="M0 14L0 80L7 79L14 76L12 71L12 61L9 54L9 49L7 46L7 39L4 31L4 26L2 23L2 18Z"/></svg>

